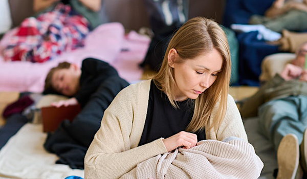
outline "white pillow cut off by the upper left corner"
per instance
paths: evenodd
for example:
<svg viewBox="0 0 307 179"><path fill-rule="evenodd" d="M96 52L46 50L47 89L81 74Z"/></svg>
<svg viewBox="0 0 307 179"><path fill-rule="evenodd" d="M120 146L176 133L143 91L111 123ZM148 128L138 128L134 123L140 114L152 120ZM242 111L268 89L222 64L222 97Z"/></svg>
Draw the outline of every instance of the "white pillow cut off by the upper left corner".
<svg viewBox="0 0 307 179"><path fill-rule="evenodd" d="M12 18L8 0L0 1L0 34L7 32L12 26Z"/></svg>

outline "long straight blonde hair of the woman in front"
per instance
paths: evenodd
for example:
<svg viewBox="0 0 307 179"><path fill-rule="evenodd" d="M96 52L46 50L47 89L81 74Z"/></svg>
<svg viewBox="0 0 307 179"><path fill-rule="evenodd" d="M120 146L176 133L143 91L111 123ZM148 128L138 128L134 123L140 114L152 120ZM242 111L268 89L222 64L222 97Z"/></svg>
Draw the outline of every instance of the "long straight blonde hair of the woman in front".
<svg viewBox="0 0 307 179"><path fill-rule="evenodd" d="M221 125L226 115L227 96L231 73L231 59L227 37L215 21L205 17L194 17L188 20L170 40L160 71L152 79L157 87L163 91L170 103L178 107L175 96L172 93L176 87L173 76L173 68L168 64L170 49L176 49L179 59L176 63L183 63L187 59L193 59L201 54L212 52L216 49L223 58L222 71L218 73L215 82L202 93L194 102L194 114L187 126L187 131L200 131L209 125L209 118L214 106L220 101L215 120L209 126L209 130L215 130Z"/></svg>

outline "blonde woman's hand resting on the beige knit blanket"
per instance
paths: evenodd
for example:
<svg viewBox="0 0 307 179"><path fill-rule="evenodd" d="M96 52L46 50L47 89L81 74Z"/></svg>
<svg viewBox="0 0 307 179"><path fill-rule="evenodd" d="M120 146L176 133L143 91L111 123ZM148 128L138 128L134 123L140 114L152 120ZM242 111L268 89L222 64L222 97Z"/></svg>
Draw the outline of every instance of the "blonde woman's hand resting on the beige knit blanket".
<svg viewBox="0 0 307 179"><path fill-rule="evenodd" d="M190 149L196 145L197 136L194 133L181 131L177 133L176 135L173 135L167 139L164 139L163 143L167 151L172 151L182 146L185 149Z"/></svg>

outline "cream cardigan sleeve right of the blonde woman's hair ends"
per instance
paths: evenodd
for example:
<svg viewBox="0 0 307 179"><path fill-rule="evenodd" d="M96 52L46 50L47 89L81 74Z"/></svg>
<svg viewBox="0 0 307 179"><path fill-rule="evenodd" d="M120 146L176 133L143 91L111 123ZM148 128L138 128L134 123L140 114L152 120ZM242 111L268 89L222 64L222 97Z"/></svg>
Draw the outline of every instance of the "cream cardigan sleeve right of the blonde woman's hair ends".
<svg viewBox="0 0 307 179"><path fill-rule="evenodd" d="M218 105L216 105L215 110L213 110L211 121L214 120L216 114L219 113L217 109ZM223 141L228 137L237 137L248 141L241 115L232 96L228 95L226 115L222 124L217 131L211 129L208 136L210 139L218 141Z"/></svg>

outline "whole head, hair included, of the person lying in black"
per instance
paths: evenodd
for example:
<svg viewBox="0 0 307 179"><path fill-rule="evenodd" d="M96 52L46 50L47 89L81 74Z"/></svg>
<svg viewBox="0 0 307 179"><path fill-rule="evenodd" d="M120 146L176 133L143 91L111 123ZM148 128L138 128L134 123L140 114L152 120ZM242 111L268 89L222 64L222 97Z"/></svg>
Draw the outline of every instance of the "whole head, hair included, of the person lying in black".
<svg viewBox="0 0 307 179"><path fill-rule="evenodd" d="M61 62L52 68L45 80L45 93L74 96L80 88L81 69L73 63Z"/></svg>

